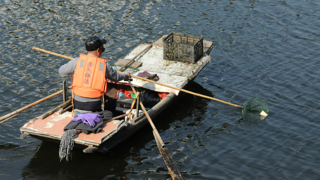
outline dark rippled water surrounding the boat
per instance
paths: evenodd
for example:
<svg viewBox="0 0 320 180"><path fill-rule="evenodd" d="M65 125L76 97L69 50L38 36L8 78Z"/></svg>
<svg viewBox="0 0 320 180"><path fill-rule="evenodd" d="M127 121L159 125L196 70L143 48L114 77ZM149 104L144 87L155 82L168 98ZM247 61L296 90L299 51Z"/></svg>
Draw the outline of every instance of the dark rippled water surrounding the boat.
<svg viewBox="0 0 320 180"><path fill-rule="evenodd" d="M242 105L263 98L270 113L245 120L239 108L183 94L155 123L185 179L319 179L318 0L1 0L0 116L60 90L58 67L85 53L96 34L103 57L123 58L171 31L214 42L211 62L188 89ZM0 179L167 179L151 128L110 153L74 149L19 127L55 107L41 102L0 124Z"/></svg>

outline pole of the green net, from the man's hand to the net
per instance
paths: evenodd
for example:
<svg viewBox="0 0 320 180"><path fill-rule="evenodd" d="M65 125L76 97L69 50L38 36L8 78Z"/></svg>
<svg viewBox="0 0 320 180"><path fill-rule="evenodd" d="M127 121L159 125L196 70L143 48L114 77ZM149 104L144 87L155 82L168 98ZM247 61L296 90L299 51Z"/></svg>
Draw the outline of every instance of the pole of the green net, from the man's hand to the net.
<svg viewBox="0 0 320 180"><path fill-rule="evenodd" d="M118 71L118 72L119 73L123 73L121 71ZM162 85L162 86L169 87L169 88L176 89L176 90L180 90L180 91L183 91L183 92L186 92L186 93L189 93L189 94L197 95L197 96L200 96L200 97L204 97L204 98L216 100L216 101L219 101L219 102L222 102L222 103L226 103L226 104L229 104L229 105L233 105L235 107L243 108L243 106L241 106L241 105L237 105L237 104L233 104L233 103L230 103L230 102L226 102L224 100L220 100L220 99L217 99L217 98L214 98L214 97L210 97L210 96L207 96L207 95L202 95L202 94L199 94L199 93L195 93L195 92L192 92L192 91L189 91L189 90L185 90L183 88L174 87L174 86L171 86L171 85L167 85L167 84L164 84L164 83L161 83L161 82L157 82L157 81L154 81L154 80L150 80L150 79L147 79L147 78L144 78L144 77L140 77L140 76L136 76L136 75L132 75L132 74L131 74L131 76L134 77L134 78L138 78L138 79L141 79L141 80L145 80L145 81L154 83L154 84Z"/></svg>

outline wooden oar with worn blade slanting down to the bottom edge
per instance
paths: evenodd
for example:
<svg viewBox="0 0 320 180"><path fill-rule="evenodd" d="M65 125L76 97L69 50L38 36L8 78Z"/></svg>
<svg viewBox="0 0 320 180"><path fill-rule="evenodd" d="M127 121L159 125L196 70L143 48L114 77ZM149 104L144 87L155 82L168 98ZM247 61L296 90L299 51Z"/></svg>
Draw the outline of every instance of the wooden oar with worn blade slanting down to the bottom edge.
<svg viewBox="0 0 320 180"><path fill-rule="evenodd" d="M137 95L133 85L131 84L131 82L128 80L132 90L133 90L133 93L135 95ZM160 134L159 132L156 130L152 120L151 120L151 117L149 116L148 112L145 110L142 102L140 101L140 106L146 116L146 118L148 119L151 127L152 127L152 132L153 132L153 136L154 136L154 139L156 141L156 145L158 146L159 148L159 151L161 153L161 156L169 170L169 173L171 175L171 178L172 179L183 179L180 171L178 170L177 166L175 165L175 162L173 161L173 158L168 150L168 148L165 146L164 142L162 141L161 137L160 137Z"/></svg>

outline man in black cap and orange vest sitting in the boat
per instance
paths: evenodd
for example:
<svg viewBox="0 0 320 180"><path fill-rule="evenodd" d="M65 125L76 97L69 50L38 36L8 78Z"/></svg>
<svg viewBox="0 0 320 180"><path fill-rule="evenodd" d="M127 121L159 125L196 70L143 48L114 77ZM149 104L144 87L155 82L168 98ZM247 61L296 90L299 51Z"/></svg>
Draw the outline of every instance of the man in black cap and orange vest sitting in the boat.
<svg viewBox="0 0 320 180"><path fill-rule="evenodd" d="M87 55L80 54L59 68L60 76L74 72L71 78L73 108L114 113L115 100L106 93L106 79L120 81L131 77L129 72L117 73L106 59L100 58L105 39L91 36L85 41Z"/></svg>

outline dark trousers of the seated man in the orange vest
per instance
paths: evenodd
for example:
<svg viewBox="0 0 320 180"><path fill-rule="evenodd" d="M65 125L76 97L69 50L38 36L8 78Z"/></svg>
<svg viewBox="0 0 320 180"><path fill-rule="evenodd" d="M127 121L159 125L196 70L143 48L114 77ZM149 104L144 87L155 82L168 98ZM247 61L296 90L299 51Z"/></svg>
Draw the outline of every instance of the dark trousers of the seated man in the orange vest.
<svg viewBox="0 0 320 180"><path fill-rule="evenodd" d="M116 101L115 98L104 95L104 110L109 110L114 114L115 101ZM102 105L102 99L97 101L91 101L91 102L81 102L73 99L74 108L81 109L81 110L89 110L93 112L102 111L101 105Z"/></svg>

